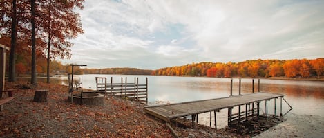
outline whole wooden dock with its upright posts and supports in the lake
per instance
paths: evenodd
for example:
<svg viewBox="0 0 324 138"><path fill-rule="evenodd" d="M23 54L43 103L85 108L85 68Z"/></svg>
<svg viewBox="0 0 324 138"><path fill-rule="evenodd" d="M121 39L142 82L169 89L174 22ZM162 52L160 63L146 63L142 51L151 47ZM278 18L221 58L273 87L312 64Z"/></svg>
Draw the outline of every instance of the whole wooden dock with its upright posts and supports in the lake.
<svg viewBox="0 0 324 138"><path fill-rule="evenodd" d="M231 80L231 87L232 82L233 81ZM283 100L287 103L283 98L284 96L284 94L278 93L258 92L246 95L231 95L229 97L210 100L146 106L144 107L144 111L164 120L165 122L176 122L176 119L180 117L191 117L192 126L194 126L195 119L196 122L198 122L198 114L208 112L211 114L213 112L214 124L216 127L216 112L219 112L222 109L228 109L228 126L231 126L234 122L248 121L249 119L260 115L260 103L263 101L265 103L265 115L268 115L268 102L272 99L274 100L274 115L276 115L276 99L280 98L280 114L278 115L283 116ZM292 108L289 104L288 106ZM236 107L238 107L238 113L233 113L233 108Z"/></svg>

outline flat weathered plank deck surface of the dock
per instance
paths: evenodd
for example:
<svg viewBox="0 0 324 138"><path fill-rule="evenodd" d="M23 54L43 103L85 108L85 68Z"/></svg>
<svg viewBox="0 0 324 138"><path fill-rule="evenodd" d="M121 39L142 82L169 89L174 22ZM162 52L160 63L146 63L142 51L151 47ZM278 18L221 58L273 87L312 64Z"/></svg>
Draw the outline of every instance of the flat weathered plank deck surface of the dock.
<svg viewBox="0 0 324 138"><path fill-rule="evenodd" d="M254 105L254 103L256 103L259 108L261 101L268 101L283 96L283 94L278 93L258 92L246 95L216 98L211 100L198 100L176 104L146 106L144 107L144 111L166 122L170 122L171 119L176 119L178 117L187 117L189 115L196 116L200 113L207 113L211 111L215 112L225 108L231 109L235 106L242 106L247 104ZM229 116L232 116L232 114L230 114Z"/></svg>

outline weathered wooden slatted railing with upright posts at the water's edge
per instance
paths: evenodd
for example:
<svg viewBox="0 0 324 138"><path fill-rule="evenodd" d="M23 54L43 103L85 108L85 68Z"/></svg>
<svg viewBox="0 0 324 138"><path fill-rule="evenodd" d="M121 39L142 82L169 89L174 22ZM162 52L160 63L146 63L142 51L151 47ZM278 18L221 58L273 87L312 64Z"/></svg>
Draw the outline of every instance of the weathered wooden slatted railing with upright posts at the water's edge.
<svg viewBox="0 0 324 138"><path fill-rule="evenodd" d="M120 83L114 83L113 77L111 77L111 82L107 83L106 77L96 77L95 78L97 91L115 97L122 97L128 100L136 100L139 102L148 102L148 78L146 78L145 84L139 84L138 78L134 78L134 82L127 82L127 77L121 78Z"/></svg>

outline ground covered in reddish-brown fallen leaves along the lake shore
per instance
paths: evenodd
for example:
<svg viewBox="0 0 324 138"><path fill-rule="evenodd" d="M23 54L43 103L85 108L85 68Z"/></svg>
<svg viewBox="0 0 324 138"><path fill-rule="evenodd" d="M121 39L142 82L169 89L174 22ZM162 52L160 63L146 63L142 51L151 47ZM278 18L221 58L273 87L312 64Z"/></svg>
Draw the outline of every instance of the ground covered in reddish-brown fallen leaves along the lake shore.
<svg viewBox="0 0 324 138"><path fill-rule="evenodd" d="M0 112L1 137L172 137L164 122L143 112L143 104L106 97L102 106L67 102L68 88L59 84L6 82L14 100ZM35 89L48 89L48 102L32 102ZM180 137L239 137L198 125L177 128Z"/></svg>

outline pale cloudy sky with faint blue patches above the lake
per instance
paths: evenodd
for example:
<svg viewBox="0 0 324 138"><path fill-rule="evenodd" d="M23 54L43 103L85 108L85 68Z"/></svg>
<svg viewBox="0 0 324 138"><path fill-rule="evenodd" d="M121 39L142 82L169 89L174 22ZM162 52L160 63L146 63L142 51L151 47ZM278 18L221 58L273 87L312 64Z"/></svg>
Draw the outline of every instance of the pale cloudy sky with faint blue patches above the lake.
<svg viewBox="0 0 324 138"><path fill-rule="evenodd" d="M87 0L64 63L159 69L324 57L324 1Z"/></svg>

